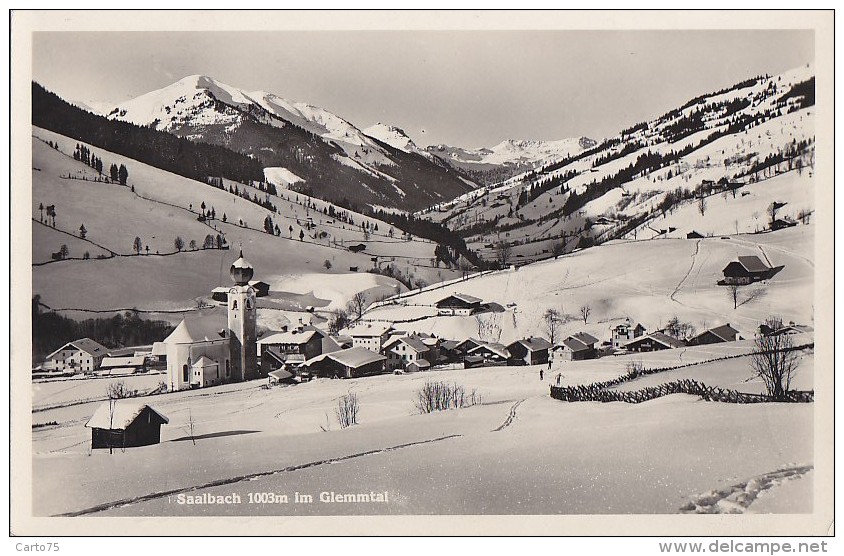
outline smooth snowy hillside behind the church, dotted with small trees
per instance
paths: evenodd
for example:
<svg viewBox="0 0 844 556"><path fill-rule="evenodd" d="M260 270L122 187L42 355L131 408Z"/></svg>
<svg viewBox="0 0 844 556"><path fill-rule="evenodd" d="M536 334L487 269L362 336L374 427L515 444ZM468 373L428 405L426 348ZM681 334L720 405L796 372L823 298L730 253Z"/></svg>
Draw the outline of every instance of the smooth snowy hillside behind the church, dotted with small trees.
<svg viewBox="0 0 844 556"><path fill-rule="evenodd" d="M392 265L405 279L457 276L432 264L435 244L409 239L386 222L291 191L272 195L230 180L211 186L88 145L106 167L127 167L128 182L121 186L74 160L77 144L33 127L33 293L70 316L91 316L73 310L137 308L160 318L156 313L196 309L209 301L212 288L229 283L229 265L241 248L256 278L274 292L262 298L259 310L259 321L267 326L277 324L277 317L296 318L295 311L306 305L342 307L358 291L373 300L405 289L392 278L365 273L373 257L382 269ZM239 195L230 187L238 187ZM39 205L55 207L55 227ZM203 221L201 214L212 210L215 217ZM273 234L265 230L268 218ZM83 225L84 239L79 237ZM227 249L203 249L209 237L217 247L217 235ZM180 252L177 236L184 244ZM141 254L134 249L136 237ZM360 244L362 252L348 249ZM61 245L67 246L67 258L53 260ZM352 267L359 273L350 272Z"/></svg>

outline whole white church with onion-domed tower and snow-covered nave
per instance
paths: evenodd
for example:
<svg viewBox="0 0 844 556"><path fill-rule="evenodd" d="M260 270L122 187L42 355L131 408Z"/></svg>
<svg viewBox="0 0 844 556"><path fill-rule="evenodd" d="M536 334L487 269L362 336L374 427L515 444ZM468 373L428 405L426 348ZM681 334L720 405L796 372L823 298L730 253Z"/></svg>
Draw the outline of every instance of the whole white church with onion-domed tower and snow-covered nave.
<svg viewBox="0 0 844 556"><path fill-rule="evenodd" d="M186 317L162 342L171 391L259 378L254 269L243 252L229 269L227 317Z"/></svg>

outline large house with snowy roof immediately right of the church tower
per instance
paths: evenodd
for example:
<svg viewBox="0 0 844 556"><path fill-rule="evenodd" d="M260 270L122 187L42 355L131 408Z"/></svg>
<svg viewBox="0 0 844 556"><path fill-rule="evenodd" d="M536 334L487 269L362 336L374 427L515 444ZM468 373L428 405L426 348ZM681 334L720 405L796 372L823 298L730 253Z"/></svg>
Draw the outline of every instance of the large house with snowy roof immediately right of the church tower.
<svg viewBox="0 0 844 556"><path fill-rule="evenodd" d="M297 326L258 340L261 374L293 368L317 355L339 349L340 346L322 330L311 325Z"/></svg>

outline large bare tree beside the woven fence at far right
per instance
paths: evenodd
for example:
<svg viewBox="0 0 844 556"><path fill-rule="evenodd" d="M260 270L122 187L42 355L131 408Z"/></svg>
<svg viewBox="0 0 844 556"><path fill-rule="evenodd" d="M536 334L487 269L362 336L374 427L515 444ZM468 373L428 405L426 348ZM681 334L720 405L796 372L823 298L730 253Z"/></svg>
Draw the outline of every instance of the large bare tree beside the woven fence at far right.
<svg viewBox="0 0 844 556"><path fill-rule="evenodd" d="M782 328L782 319L768 317L765 324L771 330ZM759 334L750 355L753 377L761 378L768 395L775 400L784 400L791 390L791 381L800 365L800 357L794 350L794 342L788 334L766 336Z"/></svg>

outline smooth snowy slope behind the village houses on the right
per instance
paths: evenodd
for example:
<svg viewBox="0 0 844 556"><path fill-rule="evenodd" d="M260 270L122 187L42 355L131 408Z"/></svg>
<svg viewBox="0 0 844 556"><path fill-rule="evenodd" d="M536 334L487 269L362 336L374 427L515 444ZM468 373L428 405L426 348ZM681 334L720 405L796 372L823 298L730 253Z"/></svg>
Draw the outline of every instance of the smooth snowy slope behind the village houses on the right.
<svg viewBox="0 0 844 556"><path fill-rule="evenodd" d="M558 337L585 331L602 341L624 319L653 331L676 315L698 331L730 323L752 338L769 315L812 323L814 308L805 300L814 295L813 253L812 225L729 238L616 241L403 297L398 304L370 310L365 318L395 321L398 328L444 338L509 343L532 335L547 338L547 309L563 315ZM756 255L784 268L766 282L739 288L739 306L734 308L727 288L717 282L723 268L740 255ZM436 301L455 292L502 309L437 316ZM582 306L590 308L586 323Z"/></svg>

